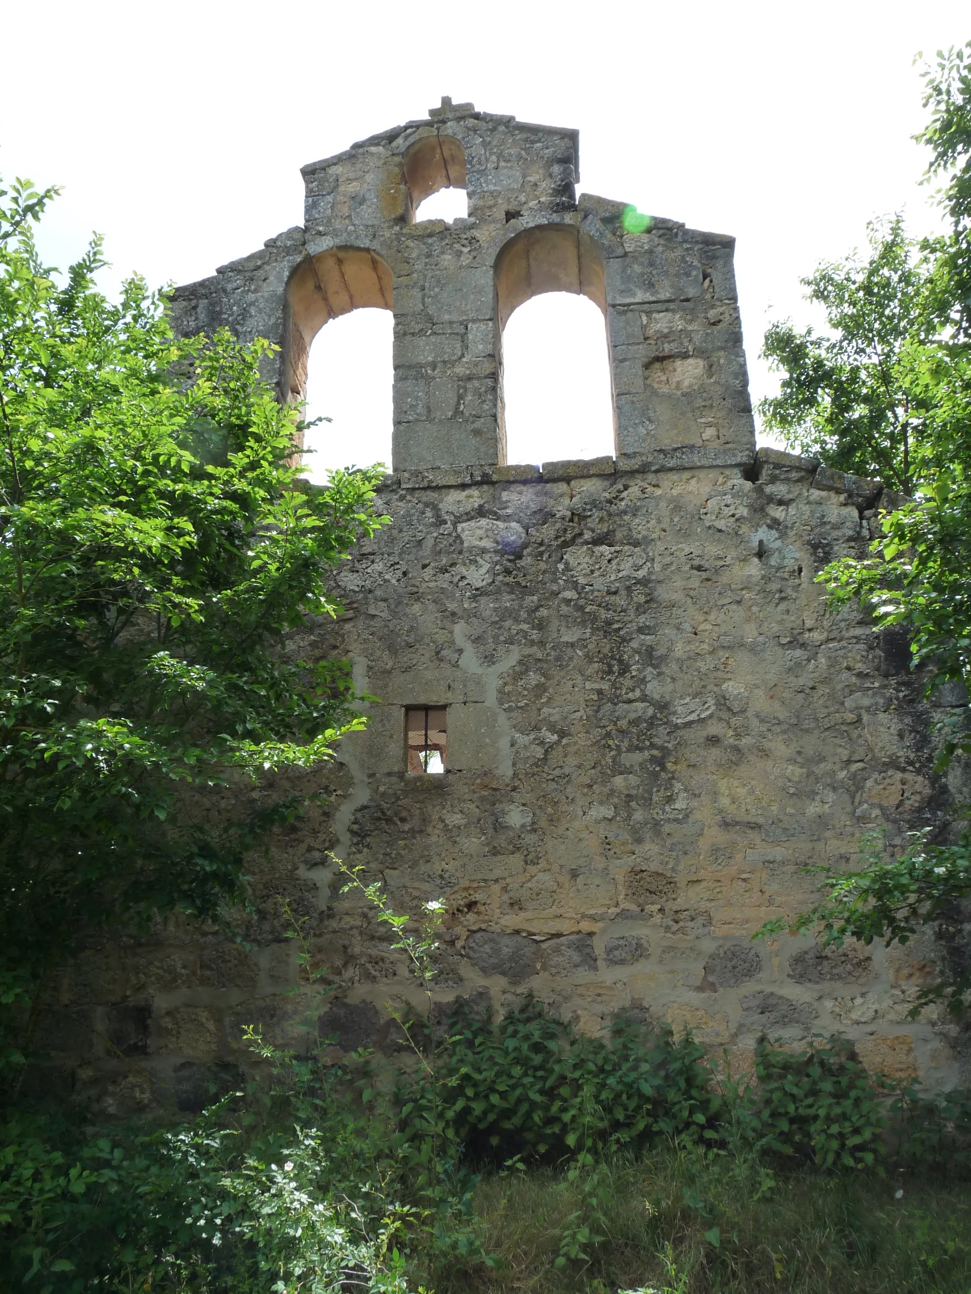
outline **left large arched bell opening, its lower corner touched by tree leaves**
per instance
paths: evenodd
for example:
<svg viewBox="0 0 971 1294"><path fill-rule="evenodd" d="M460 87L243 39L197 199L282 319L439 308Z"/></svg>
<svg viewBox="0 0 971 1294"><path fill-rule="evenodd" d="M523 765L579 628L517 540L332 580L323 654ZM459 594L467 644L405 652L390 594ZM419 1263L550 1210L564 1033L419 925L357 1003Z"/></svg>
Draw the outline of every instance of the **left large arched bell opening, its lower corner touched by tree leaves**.
<svg viewBox="0 0 971 1294"><path fill-rule="evenodd" d="M394 280L377 252L334 247L300 261L286 290L286 395L304 406L309 479L391 463ZM315 344L316 339L316 344Z"/></svg>

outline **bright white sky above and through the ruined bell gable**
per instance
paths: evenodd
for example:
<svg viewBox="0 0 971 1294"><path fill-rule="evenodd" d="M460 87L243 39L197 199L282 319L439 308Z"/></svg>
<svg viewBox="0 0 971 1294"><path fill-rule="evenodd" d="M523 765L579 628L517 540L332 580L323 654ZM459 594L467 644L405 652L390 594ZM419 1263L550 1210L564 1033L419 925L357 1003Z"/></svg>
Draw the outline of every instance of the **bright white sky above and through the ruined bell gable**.
<svg viewBox="0 0 971 1294"><path fill-rule="evenodd" d="M63 185L44 236L54 264L97 229L114 274L180 283L299 224L302 163L423 116L443 94L579 127L581 190L735 234L757 400L772 388L757 358L769 318L813 320L800 276L862 245L876 214L902 210L914 232L936 228L917 186L926 159L910 140L923 123L911 65L918 50L968 39L967 0L0 0L0 173ZM572 303L574 321L558 299L537 300L509 325L510 369L517 351L526 377L542 374L539 402L510 399L511 461L605 452L596 373L583 373L602 345L597 320L586 312L590 344L577 331L586 304ZM321 334L334 330L328 353L315 347L313 411L334 417L321 466L388 454L381 316L337 321ZM356 347L370 362L339 325L370 330ZM559 378L562 340L553 353L541 345L557 327L580 338ZM517 380L508 371L508 386Z"/></svg>

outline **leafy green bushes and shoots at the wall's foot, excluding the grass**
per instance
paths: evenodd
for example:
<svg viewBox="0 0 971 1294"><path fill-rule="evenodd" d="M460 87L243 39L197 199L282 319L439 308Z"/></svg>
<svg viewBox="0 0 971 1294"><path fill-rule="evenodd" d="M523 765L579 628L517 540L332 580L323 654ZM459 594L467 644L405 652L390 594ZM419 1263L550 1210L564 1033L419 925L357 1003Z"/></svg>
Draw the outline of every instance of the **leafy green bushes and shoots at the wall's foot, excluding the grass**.
<svg viewBox="0 0 971 1294"><path fill-rule="evenodd" d="M606 1040L580 1036L531 1000L498 1024L460 1007L436 1030L429 990L443 905L426 905L410 933L378 885L344 872L426 989L427 1013L397 1017L407 1071L388 1083L368 1053L328 1062L316 1030L329 989L298 919L299 1056L254 1026L263 1064L252 1082L194 1121L111 1128L22 1114L3 1130L0 1262L12 1281L47 1294L404 1294L430 1276L443 1290L498 1288L483 1284L505 1262L482 1212L491 1183L515 1196L554 1171L544 1203L553 1232L533 1225L563 1288L603 1294L577 1281L614 1262L618 1184L662 1172L677 1190L658 1209L694 1250L678 1266L651 1223L641 1273L664 1250L668 1289L686 1290L694 1268L716 1281L699 1289L730 1289L725 1273L759 1266L752 1207L776 1198L790 1162L834 1181L882 1172L887 1144L893 1166L965 1162L971 1096L932 1101L908 1088L893 1101L842 1043L794 1053L763 1042L755 1082L739 1086L716 1077L690 1036L632 1021ZM637 1275L616 1269L627 1284ZM772 1269L781 1280L786 1263Z"/></svg>

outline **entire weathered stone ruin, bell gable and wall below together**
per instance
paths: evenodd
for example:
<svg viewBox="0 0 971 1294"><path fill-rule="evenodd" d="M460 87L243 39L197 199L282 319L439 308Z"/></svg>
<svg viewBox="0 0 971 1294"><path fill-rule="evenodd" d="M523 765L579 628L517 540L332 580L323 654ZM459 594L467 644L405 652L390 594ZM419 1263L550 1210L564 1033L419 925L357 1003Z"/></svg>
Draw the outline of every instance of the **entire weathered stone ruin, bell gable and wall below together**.
<svg viewBox="0 0 971 1294"><path fill-rule="evenodd" d="M621 203L575 199L574 132L470 105L304 177L306 225L180 289L173 314L276 340L291 399L328 318L394 309L392 524L340 567L347 613L293 642L350 657L379 704L304 778L329 806L254 859L250 946L172 924L65 974L50 1047L78 1095L190 1108L245 1061L243 1024L299 1040L280 895L338 981L325 1033L390 1046L382 1007L414 989L329 850L396 907L447 901L443 1004L533 992L585 1030L636 1009L739 1060L763 1031L844 1031L874 1068L958 1080L959 1036L906 1018L944 951L750 939L812 898L804 867L940 822L949 792L906 644L826 612L813 582L895 501L755 454L731 239L624 233ZM410 223L448 182L469 219ZM616 455L508 466L501 325L563 289L605 312ZM447 707L441 776L405 771L412 705Z"/></svg>

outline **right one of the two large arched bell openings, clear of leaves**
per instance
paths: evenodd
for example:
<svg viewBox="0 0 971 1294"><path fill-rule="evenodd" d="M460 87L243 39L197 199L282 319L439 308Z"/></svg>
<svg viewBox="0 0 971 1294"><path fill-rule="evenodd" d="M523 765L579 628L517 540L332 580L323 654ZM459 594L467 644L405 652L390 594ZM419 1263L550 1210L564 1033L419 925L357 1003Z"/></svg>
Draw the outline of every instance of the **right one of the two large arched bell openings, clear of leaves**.
<svg viewBox="0 0 971 1294"><path fill-rule="evenodd" d="M500 444L510 463L616 452L603 256L574 225L537 225L496 259Z"/></svg>

